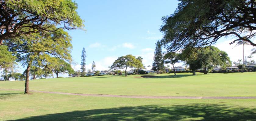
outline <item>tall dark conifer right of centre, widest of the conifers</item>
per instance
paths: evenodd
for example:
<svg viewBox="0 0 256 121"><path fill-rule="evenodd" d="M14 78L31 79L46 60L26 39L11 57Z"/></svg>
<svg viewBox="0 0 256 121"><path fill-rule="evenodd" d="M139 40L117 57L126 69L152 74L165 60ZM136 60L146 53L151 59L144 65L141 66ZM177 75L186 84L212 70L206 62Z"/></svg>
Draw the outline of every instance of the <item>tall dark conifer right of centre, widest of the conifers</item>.
<svg viewBox="0 0 256 121"><path fill-rule="evenodd" d="M161 70L162 68L164 68L164 59L163 59L163 55L162 55L162 48L161 48L160 42L157 41L156 47L155 47L154 62L152 65L152 69L154 71L157 71L157 73L159 73L159 70Z"/></svg>

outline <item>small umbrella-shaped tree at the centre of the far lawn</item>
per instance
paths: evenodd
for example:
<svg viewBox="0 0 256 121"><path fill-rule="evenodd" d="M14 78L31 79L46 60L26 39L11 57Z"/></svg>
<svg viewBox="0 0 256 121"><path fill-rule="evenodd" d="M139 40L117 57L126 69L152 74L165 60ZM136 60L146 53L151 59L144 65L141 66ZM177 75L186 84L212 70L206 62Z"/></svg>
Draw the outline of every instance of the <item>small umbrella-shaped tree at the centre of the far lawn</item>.
<svg viewBox="0 0 256 121"><path fill-rule="evenodd" d="M117 60L115 60L115 62L112 64L110 68L111 69L125 68L125 76L127 76L127 73L126 73L127 68L134 67L137 61L138 60L133 55L121 56L121 57L118 57Z"/></svg>

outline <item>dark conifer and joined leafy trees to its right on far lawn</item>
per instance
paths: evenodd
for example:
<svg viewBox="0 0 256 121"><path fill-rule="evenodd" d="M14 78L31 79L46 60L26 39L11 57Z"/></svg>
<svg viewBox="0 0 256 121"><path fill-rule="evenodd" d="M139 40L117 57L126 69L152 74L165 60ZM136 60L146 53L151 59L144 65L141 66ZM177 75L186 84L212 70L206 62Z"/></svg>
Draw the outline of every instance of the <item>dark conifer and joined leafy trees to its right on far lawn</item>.
<svg viewBox="0 0 256 121"><path fill-rule="evenodd" d="M159 70L164 70L164 63L170 63L174 68L174 64L181 61L189 65L189 68L193 71L193 75L195 75L195 71L200 68L204 68L204 74L207 74L207 69L211 69L214 66L226 68L232 65L228 54L214 46L204 47L200 50L188 47L182 50L181 53L168 52L163 55L160 42L158 41L156 43L154 62L152 65L154 71L159 73ZM176 75L175 68L174 74Z"/></svg>

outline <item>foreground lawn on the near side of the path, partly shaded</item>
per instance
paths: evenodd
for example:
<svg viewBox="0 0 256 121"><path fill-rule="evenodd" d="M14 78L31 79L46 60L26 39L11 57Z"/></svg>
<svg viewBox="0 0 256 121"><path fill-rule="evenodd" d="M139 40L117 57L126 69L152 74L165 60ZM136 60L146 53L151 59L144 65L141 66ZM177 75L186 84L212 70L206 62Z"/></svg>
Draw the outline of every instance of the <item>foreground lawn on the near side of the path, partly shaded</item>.
<svg viewBox="0 0 256 121"><path fill-rule="evenodd" d="M0 120L256 120L256 100L86 97L0 90Z"/></svg>

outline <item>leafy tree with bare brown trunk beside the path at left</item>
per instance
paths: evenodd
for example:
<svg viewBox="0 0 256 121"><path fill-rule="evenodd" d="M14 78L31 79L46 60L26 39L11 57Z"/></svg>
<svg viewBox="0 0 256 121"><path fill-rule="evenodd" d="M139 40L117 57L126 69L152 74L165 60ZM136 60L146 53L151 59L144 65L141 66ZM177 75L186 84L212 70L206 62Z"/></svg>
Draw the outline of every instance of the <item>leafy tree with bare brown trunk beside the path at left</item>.
<svg viewBox="0 0 256 121"><path fill-rule="evenodd" d="M55 27L52 27L55 29ZM71 37L66 31L38 32L5 40L9 51L15 53L18 61L27 66L25 94L29 93L29 72L31 66L56 63L56 58L71 61Z"/></svg>

